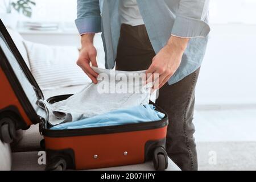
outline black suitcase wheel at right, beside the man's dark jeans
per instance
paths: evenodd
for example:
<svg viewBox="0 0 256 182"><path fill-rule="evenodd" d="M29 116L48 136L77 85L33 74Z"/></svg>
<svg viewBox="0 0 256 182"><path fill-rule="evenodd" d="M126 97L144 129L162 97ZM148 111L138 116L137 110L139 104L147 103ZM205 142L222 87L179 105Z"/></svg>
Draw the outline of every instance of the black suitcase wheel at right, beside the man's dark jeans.
<svg viewBox="0 0 256 182"><path fill-rule="evenodd" d="M153 155L154 167L157 171L164 171L168 167L168 156L163 147L156 147Z"/></svg>

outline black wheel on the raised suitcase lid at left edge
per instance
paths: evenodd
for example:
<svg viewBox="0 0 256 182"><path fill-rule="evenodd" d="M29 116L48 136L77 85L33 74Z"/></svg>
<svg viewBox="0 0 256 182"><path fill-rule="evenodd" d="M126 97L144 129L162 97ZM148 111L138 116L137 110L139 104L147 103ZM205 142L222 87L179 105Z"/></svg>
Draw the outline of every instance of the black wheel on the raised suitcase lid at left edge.
<svg viewBox="0 0 256 182"><path fill-rule="evenodd" d="M15 125L14 122L10 118L3 118L0 121L1 131L0 131L0 139L4 143L11 143L15 138Z"/></svg>

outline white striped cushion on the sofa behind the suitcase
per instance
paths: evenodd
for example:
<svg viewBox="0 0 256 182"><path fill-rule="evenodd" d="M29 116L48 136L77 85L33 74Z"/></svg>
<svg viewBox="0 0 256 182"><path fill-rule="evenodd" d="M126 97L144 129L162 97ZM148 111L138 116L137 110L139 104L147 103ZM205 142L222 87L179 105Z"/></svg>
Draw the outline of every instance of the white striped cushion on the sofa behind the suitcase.
<svg viewBox="0 0 256 182"><path fill-rule="evenodd" d="M46 46L24 41L32 75L42 89L82 85L90 81L76 60L79 50L72 46Z"/></svg>

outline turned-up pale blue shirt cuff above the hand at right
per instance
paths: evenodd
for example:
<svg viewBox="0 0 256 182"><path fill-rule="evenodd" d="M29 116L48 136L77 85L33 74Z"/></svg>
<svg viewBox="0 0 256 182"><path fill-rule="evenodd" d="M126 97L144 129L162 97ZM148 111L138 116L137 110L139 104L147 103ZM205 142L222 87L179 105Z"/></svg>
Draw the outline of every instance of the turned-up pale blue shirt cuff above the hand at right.
<svg viewBox="0 0 256 182"><path fill-rule="evenodd" d="M210 32L210 27L203 20L177 15L172 35L181 38L205 38Z"/></svg>

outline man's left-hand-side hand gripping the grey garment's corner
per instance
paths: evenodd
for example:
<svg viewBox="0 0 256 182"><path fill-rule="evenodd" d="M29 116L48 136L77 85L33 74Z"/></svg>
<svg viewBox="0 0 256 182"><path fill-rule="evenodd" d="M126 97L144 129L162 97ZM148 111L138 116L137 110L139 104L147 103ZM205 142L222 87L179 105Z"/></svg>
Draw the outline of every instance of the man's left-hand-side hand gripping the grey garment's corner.
<svg viewBox="0 0 256 182"><path fill-rule="evenodd" d="M96 56L97 51L93 46L93 38L95 34L84 34L81 37L82 48L80 51L79 59L77 60L77 65L82 68L82 70L88 75L88 77L97 84L98 73L94 72L90 67L92 63L93 67L98 67Z"/></svg>

